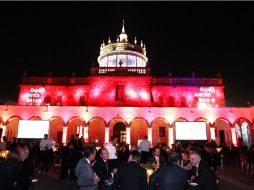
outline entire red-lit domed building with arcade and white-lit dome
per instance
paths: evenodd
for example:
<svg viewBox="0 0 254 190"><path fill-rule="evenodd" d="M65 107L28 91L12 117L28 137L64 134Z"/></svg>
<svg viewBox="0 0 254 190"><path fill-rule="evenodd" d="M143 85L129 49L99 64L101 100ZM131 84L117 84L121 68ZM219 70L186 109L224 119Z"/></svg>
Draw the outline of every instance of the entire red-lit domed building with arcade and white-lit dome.
<svg viewBox="0 0 254 190"><path fill-rule="evenodd" d="M103 144L115 135L136 145L148 135L173 144L175 121L205 121L208 140L253 142L253 107L225 107L220 77L155 78L148 63L145 44L130 42L123 25L116 42L101 44L90 76L24 76L18 105L1 106L2 135L16 136L19 119L42 119L58 142L74 134Z"/></svg>

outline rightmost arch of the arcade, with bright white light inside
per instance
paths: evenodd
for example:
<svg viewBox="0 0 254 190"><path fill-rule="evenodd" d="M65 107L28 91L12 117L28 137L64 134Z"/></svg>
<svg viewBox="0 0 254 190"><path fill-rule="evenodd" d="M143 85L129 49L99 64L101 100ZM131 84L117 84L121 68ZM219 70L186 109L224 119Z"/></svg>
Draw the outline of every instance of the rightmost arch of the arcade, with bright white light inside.
<svg viewBox="0 0 254 190"><path fill-rule="evenodd" d="M253 142L251 122L244 117L239 117L234 121L233 127L236 130L238 142L250 146Z"/></svg>

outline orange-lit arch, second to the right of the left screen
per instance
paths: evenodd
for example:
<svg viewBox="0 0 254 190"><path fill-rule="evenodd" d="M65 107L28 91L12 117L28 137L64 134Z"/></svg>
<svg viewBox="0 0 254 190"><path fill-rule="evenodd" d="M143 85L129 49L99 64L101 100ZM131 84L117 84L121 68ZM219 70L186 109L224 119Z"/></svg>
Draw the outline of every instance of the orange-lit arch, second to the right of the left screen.
<svg viewBox="0 0 254 190"><path fill-rule="evenodd" d="M66 122L66 126L68 127L67 138L69 138L71 135L74 135L74 137L77 139L79 136L77 133L77 127L78 126L82 126L82 128L85 127L86 122L82 117L74 116L74 117L71 117Z"/></svg>

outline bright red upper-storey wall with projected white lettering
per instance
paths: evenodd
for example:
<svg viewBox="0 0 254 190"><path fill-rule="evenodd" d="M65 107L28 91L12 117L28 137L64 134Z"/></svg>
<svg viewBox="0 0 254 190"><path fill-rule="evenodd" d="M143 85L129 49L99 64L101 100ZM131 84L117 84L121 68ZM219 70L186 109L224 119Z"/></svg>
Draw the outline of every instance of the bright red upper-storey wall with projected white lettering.
<svg viewBox="0 0 254 190"><path fill-rule="evenodd" d="M221 107L224 87L152 85L150 76L91 76L87 85L20 85L18 105Z"/></svg>

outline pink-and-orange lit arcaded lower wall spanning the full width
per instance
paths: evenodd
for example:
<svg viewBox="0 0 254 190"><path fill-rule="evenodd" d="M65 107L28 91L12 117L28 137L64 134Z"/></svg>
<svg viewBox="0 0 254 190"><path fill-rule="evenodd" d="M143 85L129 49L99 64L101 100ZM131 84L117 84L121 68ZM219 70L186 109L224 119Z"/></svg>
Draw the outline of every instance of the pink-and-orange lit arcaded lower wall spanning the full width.
<svg viewBox="0 0 254 190"><path fill-rule="evenodd" d="M170 139L169 128L173 128L174 121L197 119L206 120L211 127L217 129L216 141L218 140L218 130L225 128L228 131L227 139L232 143L234 123L249 123L249 130L253 140L253 107L219 107L219 108L170 108L170 107L83 107L83 106L0 106L0 128L5 129L5 135L10 140L18 132L18 121L20 119L41 118L50 120L50 138L57 141L57 133L62 132L67 127L66 136L76 133L77 126L88 127L88 139L98 138L103 143L107 128L109 134L113 134L113 126L116 122L126 123L130 128L130 143L136 144L139 139L148 134L152 128L153 143L167 143ZM95 118L100 118L95 120ZM166 137L158 137L159 127L165 127ZM210 128L210 126L209 126ZM209 129L207 125L208 135ZM29 131L30 132L30 131ZM98 136L98 137L97 137ZM148 134L149 136L149 134ZM208 138L210 139L210 137ZM238 142L239 143L239 142Z"/></svg>

